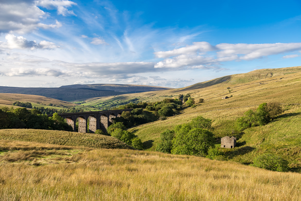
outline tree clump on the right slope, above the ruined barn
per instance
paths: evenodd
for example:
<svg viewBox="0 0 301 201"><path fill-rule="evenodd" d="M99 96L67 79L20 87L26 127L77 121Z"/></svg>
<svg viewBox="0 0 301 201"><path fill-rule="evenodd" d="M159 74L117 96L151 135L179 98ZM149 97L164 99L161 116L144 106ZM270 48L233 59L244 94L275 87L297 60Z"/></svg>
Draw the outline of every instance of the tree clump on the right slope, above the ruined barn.
<svg viewBox="0 0 301 201"><path fill-rule="evenodd" d="M244 113L243 117L237 119L237 127L239 130L245 130L250 127L265 125L283 111L278 102L262 103L255 111L250 109Z"/></svg>

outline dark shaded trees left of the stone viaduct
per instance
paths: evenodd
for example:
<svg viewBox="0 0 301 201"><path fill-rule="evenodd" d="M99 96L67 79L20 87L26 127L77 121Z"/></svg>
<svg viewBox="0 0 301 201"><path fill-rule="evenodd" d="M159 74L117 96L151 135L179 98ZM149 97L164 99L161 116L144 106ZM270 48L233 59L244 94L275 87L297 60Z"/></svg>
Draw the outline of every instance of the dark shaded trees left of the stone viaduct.
<svg viewBox="0 0 301 201"><path fill-rule="evenodd" d="M0 129L7 128L73 131L72 127L57 113L48 118L47 115L42 115L37 109L27 110L26 108L0 109Z"/></svg>

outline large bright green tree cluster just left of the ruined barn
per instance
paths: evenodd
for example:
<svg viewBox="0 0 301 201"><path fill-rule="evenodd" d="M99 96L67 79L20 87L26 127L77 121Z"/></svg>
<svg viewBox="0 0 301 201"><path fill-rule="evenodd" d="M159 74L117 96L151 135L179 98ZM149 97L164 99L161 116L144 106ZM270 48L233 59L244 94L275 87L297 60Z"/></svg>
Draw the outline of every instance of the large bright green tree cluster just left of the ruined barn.
<svg viewBox="0 0 301 201"><path fill-rule="evenodd" d="M173 130L166 130L160 134L161 142L156 151L171 154L186 154L207 156L212 149L214 136L211 130L211 119L201 116L192 119L188 124L176 126Z"/></svg>

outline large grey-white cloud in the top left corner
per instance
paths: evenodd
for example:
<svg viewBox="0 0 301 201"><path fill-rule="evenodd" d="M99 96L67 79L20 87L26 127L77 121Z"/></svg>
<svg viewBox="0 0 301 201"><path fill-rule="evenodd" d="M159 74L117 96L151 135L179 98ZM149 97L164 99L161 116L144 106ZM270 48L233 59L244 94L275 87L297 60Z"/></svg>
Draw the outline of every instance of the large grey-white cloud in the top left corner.
<svg viewBox="0 0 301 201"><path fill-rule="evenodd" d="M61 27L56 20L55 24L40 23L49 17L49 13L42 11L33 1L6 1L0 2L0 33L17 32L29 33L39 28L50 29Z"/></svg>

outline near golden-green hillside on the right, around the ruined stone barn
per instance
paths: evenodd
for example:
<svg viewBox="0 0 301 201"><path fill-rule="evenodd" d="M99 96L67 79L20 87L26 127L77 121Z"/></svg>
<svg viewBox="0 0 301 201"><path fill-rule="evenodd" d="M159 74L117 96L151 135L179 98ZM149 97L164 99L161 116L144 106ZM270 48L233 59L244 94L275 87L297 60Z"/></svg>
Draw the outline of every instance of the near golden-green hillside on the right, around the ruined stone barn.
<svg viewBox="0 0 301 201"><path fill-rule="evenodd" d="M259 82L264 84L259 84ZM231 92L233 97L222 99L223 96L230 95L227 87L233 89ZM300 91L300 72L244 84L208 86L190 91L196 102L199 98L205 99L204 103L196 104L196 109L186 108L183 114L170 117L165 121L156 121L129 130L141 138L146 149L154 151L156 144L160 141L162 131L187 123L192 118L201 115L213 120L213 127L215 127L213 132L216 137L235 136L238 138L238 146L235 149L222 149L229 159L250 164L258 153L269 151L284 155L290 161L291 170L296 168L295 171L300 171ZM280 102L287 111L266 126L249 128L239 133L235 127L235 120L248 109L256 109L262 102ZM289 106L289 104L293 105ZM216 146L220 146L220 141L216 143Z"/></svg>

